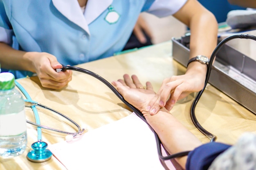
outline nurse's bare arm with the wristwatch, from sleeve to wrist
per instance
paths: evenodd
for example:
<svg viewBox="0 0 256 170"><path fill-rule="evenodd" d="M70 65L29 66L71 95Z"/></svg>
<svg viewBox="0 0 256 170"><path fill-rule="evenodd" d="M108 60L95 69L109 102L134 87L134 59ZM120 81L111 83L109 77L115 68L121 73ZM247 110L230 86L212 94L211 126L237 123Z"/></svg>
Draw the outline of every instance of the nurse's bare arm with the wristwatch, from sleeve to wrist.
<svg viewBox="0 0 256 170"><path fill-rule="evenodd" d="M217 45L218 23L215 16L197 0L188 0L173 16L190 28L189 59L197 55L210 57ZM205 65L193 62L189 64L186 73L192 71L206 74L206 70Z"/></svg>

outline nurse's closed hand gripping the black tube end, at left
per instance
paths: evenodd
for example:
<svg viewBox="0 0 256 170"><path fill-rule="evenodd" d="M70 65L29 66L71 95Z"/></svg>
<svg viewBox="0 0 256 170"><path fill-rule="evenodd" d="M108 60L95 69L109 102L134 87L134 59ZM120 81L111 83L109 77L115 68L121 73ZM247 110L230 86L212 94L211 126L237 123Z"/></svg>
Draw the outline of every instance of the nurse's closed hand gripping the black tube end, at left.
<svg viewBox="0 0 256 170"><path fill-rule="evenodd" d="M62 65L49 53L27 52L43 87L61 89L72 80L72 71L56 72Z"/></svg>

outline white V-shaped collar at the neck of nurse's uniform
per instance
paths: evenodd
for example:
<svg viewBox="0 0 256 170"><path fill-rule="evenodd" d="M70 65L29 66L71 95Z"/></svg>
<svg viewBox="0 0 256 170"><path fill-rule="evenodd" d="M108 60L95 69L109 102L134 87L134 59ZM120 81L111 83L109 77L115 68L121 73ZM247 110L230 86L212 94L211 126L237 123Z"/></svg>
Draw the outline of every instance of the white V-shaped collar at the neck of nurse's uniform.
<svg viewBox="0 0 256 170"><path fill-rule="evenodd" d="M90 35L88 24L105 11L113 0L88 0L84 16L77 0L52 0L52 2L56 9L67 19L80 26Z"/></svg>

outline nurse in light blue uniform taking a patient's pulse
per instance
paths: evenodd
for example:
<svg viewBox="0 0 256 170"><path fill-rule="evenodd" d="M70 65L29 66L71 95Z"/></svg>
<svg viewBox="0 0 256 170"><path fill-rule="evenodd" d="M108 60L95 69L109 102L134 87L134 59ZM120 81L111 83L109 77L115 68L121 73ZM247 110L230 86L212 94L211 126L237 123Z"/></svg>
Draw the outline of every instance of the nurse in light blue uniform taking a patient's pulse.
<svg viewBox="0 0 256 170"><path fill-rule="evenodd" d="M56 73L56 68L121 51L144 11L158 17L173 15L189 26L190 58L210 57L216 46L216 19L197 0L88 0L84 11L80 6L77 0L0 0L2 68L12 70L17 78L36 73L43 87L63 88L72 72ZM205 74L205 65L191 62L184 75L167 78L161 86L173 89L158 94L167 98L175 90L169 104L173 106L180 96L200 91Z"/></svg>

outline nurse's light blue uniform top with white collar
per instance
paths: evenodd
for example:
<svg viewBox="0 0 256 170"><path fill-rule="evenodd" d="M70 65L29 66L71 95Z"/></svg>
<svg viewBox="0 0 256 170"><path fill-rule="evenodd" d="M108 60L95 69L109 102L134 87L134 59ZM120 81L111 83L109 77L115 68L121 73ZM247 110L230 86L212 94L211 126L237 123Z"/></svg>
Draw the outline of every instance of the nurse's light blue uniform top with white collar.
<svg viewBox="0 0 256 170"><path fill-rule="evenodd" d="M99 0L88 0L83 14L76 0L0 0L0 26L13 29L19 50L47 52L63 65L76 65L121 51L139 13L147 11L154 1L101 0L104 9L97 14L93 8L99 6L95 4ZM110 4L120 15L115 24L104 19ZM86 15L92 16L86 20ZM32 75L11 72L16 78Z"/></svg>

